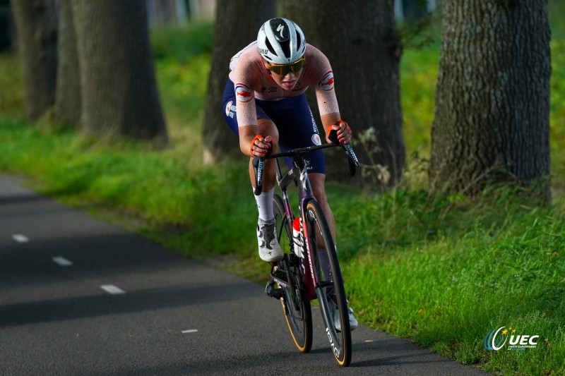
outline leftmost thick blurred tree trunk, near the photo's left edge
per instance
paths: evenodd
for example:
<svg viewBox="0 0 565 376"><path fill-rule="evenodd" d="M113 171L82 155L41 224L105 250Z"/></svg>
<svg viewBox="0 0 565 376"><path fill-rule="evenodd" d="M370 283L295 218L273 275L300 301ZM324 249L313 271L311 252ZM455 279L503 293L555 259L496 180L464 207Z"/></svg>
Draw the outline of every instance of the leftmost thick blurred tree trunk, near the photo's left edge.
<svg viewBox="0 0 565 376"><path fill-rule="evenodd" d="M57 78L57 11L54 0L13 0L28 119L54 104Z"/></svg>

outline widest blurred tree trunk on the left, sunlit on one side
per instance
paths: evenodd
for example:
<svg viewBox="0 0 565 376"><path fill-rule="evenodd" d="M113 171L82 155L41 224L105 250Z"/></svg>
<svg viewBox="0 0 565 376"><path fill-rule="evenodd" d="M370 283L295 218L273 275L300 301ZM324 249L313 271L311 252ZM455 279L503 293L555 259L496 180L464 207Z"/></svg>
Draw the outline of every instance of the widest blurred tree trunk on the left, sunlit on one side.
<svg viewBox="0 0 565 376"><path fill-rule="evenodd" d="M167 142L144 0L72 0L86 134Z"/></svg>

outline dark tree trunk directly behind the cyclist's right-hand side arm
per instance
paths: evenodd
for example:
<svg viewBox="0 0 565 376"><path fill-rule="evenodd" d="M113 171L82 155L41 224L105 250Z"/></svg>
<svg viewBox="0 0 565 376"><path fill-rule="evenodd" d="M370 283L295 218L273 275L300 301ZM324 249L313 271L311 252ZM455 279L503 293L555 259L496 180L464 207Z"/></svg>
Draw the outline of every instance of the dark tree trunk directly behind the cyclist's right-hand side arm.
<svg viewBox="0 0 565 376"><path fill-rule="evenodd" d="M332 65L340 114L353 130L362 164L357 183L379 190L402 175L405 147L400 111L400 40L394 1L283 0L283 16L294 20L307 42ZM311 109L317 117L313 90ZM364 133L364 137L362 136ZM359 141L363 140L363 145ZM356 142L357 143L356 143ZM328 178L350 181L341 150L326 153Z"/></svg>

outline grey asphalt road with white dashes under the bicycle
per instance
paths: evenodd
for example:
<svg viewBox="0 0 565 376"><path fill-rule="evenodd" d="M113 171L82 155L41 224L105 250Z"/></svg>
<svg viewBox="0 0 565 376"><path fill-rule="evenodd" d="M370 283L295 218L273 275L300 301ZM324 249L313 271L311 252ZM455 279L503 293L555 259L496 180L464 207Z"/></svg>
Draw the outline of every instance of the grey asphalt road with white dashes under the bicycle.
<svg viewBox="0 0 565 376"><path fill-rule="evenodd" d="M0 176L0 375L485 375L367 327L339 368L313 315L301 354L263 286Z"/></svg>

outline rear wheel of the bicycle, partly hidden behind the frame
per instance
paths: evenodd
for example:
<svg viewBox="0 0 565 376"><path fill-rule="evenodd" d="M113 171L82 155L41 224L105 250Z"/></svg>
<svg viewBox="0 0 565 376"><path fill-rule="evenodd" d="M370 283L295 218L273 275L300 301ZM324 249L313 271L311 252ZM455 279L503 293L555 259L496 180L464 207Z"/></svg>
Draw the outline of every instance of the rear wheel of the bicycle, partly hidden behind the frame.
<svg viewBox="0 0 565 376"><path fill-rule="evenodd" d="M279 195L273 198L273 214L277 222L277 240L285 253L293 253L290 249L292 240L292 224L288 223L285 214L285 205ZM295 286L302 286L299 272L300 265L289 265L290 275L295 279ZM292 295L283 287L283 297L280 304L283 306L283 313L288 325L292 341L301 353L308 353L312 348L312 314L309 301L302 300L301 291L296 291L295 296L299 301L293 302ZM297 303L297 304L295 304Z"/></svg>

